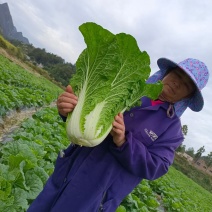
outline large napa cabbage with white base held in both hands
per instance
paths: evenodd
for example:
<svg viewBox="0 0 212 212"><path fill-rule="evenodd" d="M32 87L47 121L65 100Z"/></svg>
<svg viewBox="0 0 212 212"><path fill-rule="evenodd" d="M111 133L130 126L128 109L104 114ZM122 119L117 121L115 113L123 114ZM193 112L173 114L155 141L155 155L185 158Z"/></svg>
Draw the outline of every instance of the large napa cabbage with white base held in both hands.
<svg viewBox="0 0 212 212"><path fill-rule="evenodd" d="M114 35L90 22L79 30L87 48L70 80L78 103L67 117L66 131L71 142L93 147L109 134L115 115L141 102L142 96L155 99L162 86L145 83L150 59L131 35Z"/></svg>

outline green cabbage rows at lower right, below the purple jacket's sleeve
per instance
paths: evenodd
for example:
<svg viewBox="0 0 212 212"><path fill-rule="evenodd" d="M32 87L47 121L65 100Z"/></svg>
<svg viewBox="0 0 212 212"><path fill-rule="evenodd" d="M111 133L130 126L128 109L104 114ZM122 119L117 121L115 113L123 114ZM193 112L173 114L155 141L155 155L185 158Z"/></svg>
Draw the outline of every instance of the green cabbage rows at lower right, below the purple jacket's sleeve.
<svg viewBox="0 0 212 212"><path fill-rule="evenodd" d="M116 212L210 212L212 194L171 167L163 177L143 180Z"/></svg>

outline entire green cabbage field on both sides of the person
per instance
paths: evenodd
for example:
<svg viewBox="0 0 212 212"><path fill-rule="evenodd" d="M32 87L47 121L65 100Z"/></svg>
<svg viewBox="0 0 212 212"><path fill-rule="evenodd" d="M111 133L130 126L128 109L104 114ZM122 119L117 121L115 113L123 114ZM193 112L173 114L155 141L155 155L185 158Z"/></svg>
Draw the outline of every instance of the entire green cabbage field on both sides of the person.
<svg viewBox="0 0 212 212"><path fill-rule="evenodd" d="M48 106L61 89L0 56L1 118L10 111L40 107L0 144L0 211L25 212L69 145L65 124ZM23 91L23 93L22 93ZM117 212L212 211L212 194L173 167L160 179L143 180Z"/></svg>

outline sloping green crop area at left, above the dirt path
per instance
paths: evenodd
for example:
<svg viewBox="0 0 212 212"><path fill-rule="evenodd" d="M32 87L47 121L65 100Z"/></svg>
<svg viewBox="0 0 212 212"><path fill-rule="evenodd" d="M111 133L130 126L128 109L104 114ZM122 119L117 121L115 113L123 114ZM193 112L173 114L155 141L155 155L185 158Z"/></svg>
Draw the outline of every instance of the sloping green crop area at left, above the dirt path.
<svg viewBox="0 0 212 212"><path fill-rule="evenodd" d="M61 89L0 55L0 117L11 110L50 104Z"/></svg>

